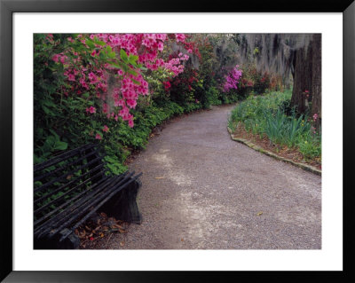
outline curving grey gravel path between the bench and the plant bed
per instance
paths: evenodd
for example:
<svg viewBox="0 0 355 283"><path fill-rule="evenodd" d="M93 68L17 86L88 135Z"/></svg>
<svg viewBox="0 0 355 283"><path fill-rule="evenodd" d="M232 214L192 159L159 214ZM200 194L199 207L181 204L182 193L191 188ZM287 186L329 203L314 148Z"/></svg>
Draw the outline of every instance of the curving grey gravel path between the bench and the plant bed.
<svg viewBox="0 0 355 283"><path fill-rule="evenodd" d="M130 164L143 172L143 223L103 248L321 248L321 178L234 142L232 109L176 119L149 141Z"/></svg>

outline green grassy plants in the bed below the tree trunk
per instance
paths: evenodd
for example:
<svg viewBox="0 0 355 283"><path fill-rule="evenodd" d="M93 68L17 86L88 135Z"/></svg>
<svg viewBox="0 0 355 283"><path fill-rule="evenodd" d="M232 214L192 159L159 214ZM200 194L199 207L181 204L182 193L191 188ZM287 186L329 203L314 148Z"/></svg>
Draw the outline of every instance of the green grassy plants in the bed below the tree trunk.
<svg viewBox="0 0 355 283"><path fill-rule="evenodd" d="M290 90L250 96L233 109L228 126L235 130L241 122L246 130L266 136L274 145L296 147L306 159L318 158L320 132L314 131L307 116L297 116L294 109L289 109L290 98Z"/></svg>

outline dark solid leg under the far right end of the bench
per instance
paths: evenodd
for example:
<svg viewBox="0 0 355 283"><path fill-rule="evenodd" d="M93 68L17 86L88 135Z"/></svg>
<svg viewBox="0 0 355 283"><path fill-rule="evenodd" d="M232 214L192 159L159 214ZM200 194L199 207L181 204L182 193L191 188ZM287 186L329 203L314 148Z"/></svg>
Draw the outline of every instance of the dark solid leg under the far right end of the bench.
<svg viewBox="0 0 355 283"><path fill-rule="evenodd" d="M116 193L100 210L105 212L107 216L114 216L117 220L141 224L142 216L137 205L137 193L141 185L140 180L132 182Z"/></svg>

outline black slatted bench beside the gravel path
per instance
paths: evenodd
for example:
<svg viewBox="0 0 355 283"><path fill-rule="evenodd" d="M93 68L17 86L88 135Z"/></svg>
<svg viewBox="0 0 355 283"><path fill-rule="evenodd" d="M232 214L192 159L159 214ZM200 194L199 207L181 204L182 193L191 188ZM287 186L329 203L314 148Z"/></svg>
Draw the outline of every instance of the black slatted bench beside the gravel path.
<svg viewBox="0 0 355 283"><path fill-rule="evenodd" d="M34 247L78 248L75 229L99 211L140 224L135 172L112 176L99 145L83 145L34 166Z"/></svg>

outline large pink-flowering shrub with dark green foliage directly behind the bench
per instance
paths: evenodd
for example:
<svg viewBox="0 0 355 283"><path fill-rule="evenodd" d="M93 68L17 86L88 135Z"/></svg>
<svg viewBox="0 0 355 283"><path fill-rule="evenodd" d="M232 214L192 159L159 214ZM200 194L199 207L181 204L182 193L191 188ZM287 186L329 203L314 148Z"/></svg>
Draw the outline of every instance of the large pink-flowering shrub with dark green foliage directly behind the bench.
<svg viewBox="0 0 355 283"><path fill-rule="evenodd" d="M166 81L184 71L187 51L174 60L167 54L173 43L185 50L184 39L160 34L36 34L35 162L96 140L108 146L111 157L121 156L113 161L121 163L126 153L115 144L124 132L122 122L133 127L138 98L154 91L149 74L167 74Z"/></svg>

